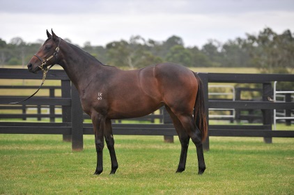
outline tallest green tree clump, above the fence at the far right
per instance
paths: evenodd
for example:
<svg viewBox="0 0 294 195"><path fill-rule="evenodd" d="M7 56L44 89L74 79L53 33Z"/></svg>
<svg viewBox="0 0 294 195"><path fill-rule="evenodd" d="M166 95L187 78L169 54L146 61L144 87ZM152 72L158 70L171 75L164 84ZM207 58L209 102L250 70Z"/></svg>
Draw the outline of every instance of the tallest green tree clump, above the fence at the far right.
<svg viewBox="0 0 294 195"><path fill-rule="evenodd" d="M291 31L281 35L265 28L258 35L247 34L245 46L251 63L263 73L291 73L294 67L294 38Z"/></svg>

